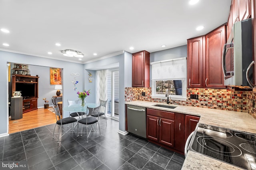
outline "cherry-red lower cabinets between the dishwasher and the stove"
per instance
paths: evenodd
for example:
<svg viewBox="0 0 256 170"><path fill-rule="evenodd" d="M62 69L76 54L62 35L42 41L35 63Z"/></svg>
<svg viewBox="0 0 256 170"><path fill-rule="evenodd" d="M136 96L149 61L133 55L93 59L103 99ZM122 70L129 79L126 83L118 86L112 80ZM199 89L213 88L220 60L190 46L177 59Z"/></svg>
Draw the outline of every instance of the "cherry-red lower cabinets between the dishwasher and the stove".
<svg viewBox="0 0 256 170"><path fill-rule="evenodd" d="M196 128L199 117L156 109L147 109L146 114L148 140L183 154L185 139Z"/></svg>

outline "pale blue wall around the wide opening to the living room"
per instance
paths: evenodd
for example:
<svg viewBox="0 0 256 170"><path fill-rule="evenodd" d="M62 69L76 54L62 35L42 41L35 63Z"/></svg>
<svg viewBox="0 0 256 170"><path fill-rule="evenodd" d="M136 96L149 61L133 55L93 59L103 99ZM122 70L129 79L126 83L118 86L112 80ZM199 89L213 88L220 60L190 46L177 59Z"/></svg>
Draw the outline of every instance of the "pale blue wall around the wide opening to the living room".
<svg viewBox="0 0 256 170"><path fill-rule="evenodd" d="M0 51L0 83L2 87L2 91L0 91L0 107L1 107L1 119L0 119L0 136L4 136L8 134L8 66L7 62L11 63L24 63L28 65L40 65L44 67L57 67L63 68L63 106L68 105L67 99L77 99L77 94L74 92L73 84L71 83L74 78L71 76L71 73L80 73L80 76L77 78L81 83L78 83L78 89L83 89L84 85L84 69L83 64L79 63L70 63L67 61L60 61L55 59L48 59L43 57L35 57L31 55L24 55L19 53L11 53L6 51ZM36 75L36 72L31 72L31 75ZM38 76L44 73L38 73ZM48 73L45 73L48 74ZM40 78L39 78L40 81ZM45 83L46 86L50 84L50 81L42 82ZM40 84L39 86L43 86L44 84ZM54 90L55 91L55 90ZM54 91L50 91L49 93L54 93ZM42 100L44 94L40 94L38 100ZM90 97L88 97L89 99ZM43 101L43 100L42 100ZM68 117L68 113L64 112L64 117Z"/></svg>

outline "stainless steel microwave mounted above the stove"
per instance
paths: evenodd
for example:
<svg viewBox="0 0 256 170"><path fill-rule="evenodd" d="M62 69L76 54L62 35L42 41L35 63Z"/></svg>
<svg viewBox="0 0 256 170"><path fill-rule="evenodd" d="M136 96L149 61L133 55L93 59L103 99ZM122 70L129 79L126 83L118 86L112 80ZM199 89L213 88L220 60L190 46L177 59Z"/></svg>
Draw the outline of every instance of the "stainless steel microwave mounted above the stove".
<svg viewBox="0 0 256 170"><path fill-rule="evenodd" d="M236 22L222 54L224 85L253 85L252 19Z"/></svg>

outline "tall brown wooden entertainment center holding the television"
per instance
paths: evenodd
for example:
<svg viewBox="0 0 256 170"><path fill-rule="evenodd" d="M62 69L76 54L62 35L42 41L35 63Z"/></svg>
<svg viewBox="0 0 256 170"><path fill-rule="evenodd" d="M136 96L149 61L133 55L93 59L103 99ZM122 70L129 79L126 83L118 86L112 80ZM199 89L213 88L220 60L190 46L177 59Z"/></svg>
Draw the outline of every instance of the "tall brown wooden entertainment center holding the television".
<svg viewBox="0 0 256 170"><path fill-rule="evenodd" d="M23 88L23 92L21 92L21 94L23 93L23 113L37 109L38 78L30 75L12 75L12 93L14 91L20 91L18 89L19 87ZM24 97L24 94L30 94L30 96Z"/></svg>

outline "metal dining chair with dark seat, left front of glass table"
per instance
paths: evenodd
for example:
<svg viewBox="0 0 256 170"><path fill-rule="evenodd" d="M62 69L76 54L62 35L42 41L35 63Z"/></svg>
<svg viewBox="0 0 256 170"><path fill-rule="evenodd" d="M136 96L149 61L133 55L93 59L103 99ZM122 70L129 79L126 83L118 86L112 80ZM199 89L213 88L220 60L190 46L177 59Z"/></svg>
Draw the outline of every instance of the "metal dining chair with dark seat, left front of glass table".
<svg viewBox="0 0 256 170"><path fill-rule="evenodd" d="M59 143L60 142L60 137L62 137L64 134L66 134L69 130L71 130L71 132L72 132L72 125L70 126L70 128L66 132L60 132L62 130L62 125L73 123L73 131L74 131L74 128L78 125L78 123L77 123L76 118L74 118L74 117L66 117L66 118L62 119L61 116L60 116L60 109L59 109L58 105L53 106L53 109L54 109L54 113L55 113L55 116L56 116L56 125L60 125L60 130L59 130L58 133L54 133L55 128L56 128L56 125L55 125L54 130L53 130L52 138L54 138L54 134L58 134L58 143ZM59 120L58 120L58 117L59 117ZM75 122L76 122L76 125L74 126ZM77 127L77 132L78 132L78 127ZM60 136L60 134L62 134L62 136Z"/></svg>

